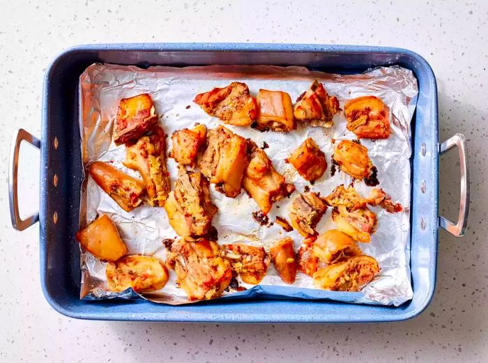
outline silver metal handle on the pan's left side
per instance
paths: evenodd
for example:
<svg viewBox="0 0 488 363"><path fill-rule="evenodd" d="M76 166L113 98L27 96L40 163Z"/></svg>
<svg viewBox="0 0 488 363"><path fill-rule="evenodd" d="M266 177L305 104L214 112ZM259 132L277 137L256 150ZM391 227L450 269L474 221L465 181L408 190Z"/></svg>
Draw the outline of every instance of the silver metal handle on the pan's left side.
<svg viewBox="0 0 488 363"><path fill-rule="evenodd" d="M26 219L20 218L19 214L19 198L18 198L18 167L19 167L19 150L20 143L27 141L29 144L40 149L40 139L33 136L24 129L19 129L17 135L14 135L12 140L12 148L10 149L10 174L8 176L8 196L10 199L10 218L12 219L13 228L17 231L24 231L24 229L32 226L39 220L39 213L36 212Z"/></svg>

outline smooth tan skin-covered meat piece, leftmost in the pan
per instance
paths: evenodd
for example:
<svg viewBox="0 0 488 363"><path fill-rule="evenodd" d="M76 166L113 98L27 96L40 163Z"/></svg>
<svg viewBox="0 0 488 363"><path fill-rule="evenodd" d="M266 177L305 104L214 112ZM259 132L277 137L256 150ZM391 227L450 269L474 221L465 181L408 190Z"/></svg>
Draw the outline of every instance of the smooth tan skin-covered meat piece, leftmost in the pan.
<svg viewBox="0 0 488 363"><path fill-rule="evenodd" d="M108 215L100 215L76 233L76 239L88 252L103 261L117 261L127 247Z"/></svg>

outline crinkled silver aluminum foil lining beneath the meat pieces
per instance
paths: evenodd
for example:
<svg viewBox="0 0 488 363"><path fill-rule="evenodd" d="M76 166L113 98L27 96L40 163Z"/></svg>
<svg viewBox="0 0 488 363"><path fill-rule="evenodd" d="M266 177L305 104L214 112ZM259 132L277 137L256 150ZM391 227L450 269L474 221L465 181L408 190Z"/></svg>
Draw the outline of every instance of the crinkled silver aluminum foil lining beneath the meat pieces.
<svg viewBox="0 0 488 363"><path fill-rule="evenodd" d="M192 102L197 93L213 87L227 86L232 81L245 82L252 94L259 88L286 91L296 100L298 95L307 90L314 79L322 82L331 95L336 95L340 105L346 100L362 95L376 95L390 107L392 134L386 140L361 142L369 149L369 157L378 169L378 178L383 188L392 196L393 201L402 203L404 212L386 213L381 208L372 208L378 215L378 229L372 235L369 244L360 243L364 254L374 256L381 267L380 274L358 293L323 291L314 288L312 279L298 273L293 285L286 285L277 276L273 265L259 286L244 284L246 291L225 292L220 299L250 298L264 294L268 297L289 297L305 299L330 299L345 302L368 304L399 305L412 298L409 269L409 206L411 190L411 118L418 95L417 80L411 70L398 66L375 68L363 74L333 75L310 71L304 67L256 66L204 66L173 68L165 66L151 67L146 70L135 66L93 64L80 77L80 115L79 126L82 135L82 157L84 166L94 160L113 162L115 167L125 173L138 176L137 172L127 169L122 161L125 146L115 146L112 142L112 130L117 107L121 98L128 98L139 93L150 93L155 109L160 115L160 124L167 135L181 128L192 128L195 123L203 123L207 128L215 128L222 122L205 114ZM337 141L356 139L346 130L346 119L341 111L334 118L335 125L326 129L321 127L298 126L298 130L288 134L278 132L259 132L251 128L227 126L236 134L254 140L258 146L268 144L266 153L273 161L277 171L288 182L294 183L296 192L290 199L275 203L269 213L270 221L277 215L289 220L288 206L297 193L310 187L313 192L326 196L340 184L349 185L352 178L345 173L336 172L331 176L330 157ZM326 153L328 170L314 185L301 178L284 160L291 151L307 137L312 137L319 148ZM337 140L333 144L332 139ZM167 150L171 150L171 139L167 137ZM168 159L167 165L171 185L177 176L176 163ZM355 183L356 190L363 195L369 194L370 187L363 182ZM218 229L220 243L241 242L250 245L262 245L265 248L272 242L289 235L296 248L303 238L296 232L285 232L278 224L260 226L251 215L259 210L253 199L243 191L236 199L229 199L215 191L211 186L211 198L219 212L213 219ZM177 238L169 226L164 208L142 206L125 212L90 178L86 177L82 188L80 204L80 226L85 226L100 213L105 213L116 223L130 254L156 256L166 259L166 250L162 245L164 238ZM335 228L328 208L326 215L317 227L319 233ZM107 289L105 263L82 250L82 288L81 298L146 298L167 304L188 303L186 295L176 286L174 271L169 270L167 285L160 291L141 295L128 289L122 293L112 293Z"/></svg>

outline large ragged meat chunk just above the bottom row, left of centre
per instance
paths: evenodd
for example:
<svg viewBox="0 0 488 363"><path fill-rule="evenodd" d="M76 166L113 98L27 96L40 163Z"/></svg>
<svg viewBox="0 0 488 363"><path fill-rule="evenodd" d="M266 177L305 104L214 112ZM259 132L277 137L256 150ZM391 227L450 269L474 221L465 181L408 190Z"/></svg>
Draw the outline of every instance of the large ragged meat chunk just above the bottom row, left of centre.
<svg viewBox="0 0 488 363"><path fill-rule="evenodd" d="M210 201L208 180L201 173L183 173L169 193L165 210L178 235L206 235L217 213L217 207Z"/></svg>

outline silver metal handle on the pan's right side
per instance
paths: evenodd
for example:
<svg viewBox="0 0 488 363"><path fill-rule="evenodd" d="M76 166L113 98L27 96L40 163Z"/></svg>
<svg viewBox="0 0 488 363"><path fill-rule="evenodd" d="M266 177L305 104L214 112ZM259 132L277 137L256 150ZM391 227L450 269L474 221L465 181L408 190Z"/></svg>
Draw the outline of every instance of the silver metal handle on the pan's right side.
<svg viewBox="0 0 488 363"><path fill-rule="evenodd" d="M468 226L469 212L469 167L468 167L468 148L466 138L463 134L454 134L439 146L439 154L442 155L450 148L457 146L459 151L459 166L461 167L461 200L459 201L459 217L454 224L450 220L439 216L439 226L455 235L461 237L466 232Z"/></svg>

